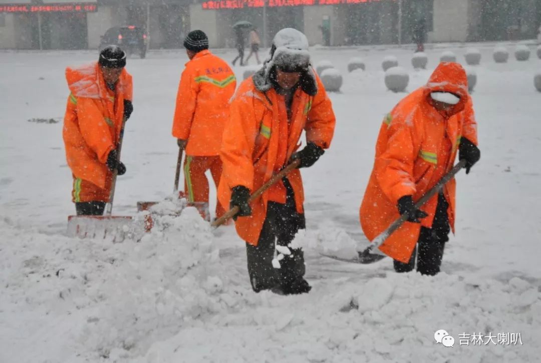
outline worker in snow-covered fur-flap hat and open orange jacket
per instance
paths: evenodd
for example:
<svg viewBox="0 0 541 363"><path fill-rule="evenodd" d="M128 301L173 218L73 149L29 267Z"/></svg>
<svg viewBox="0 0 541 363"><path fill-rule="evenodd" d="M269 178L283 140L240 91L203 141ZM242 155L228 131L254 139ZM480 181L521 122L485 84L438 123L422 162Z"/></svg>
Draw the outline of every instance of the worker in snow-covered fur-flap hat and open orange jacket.
<svg viewBox="0 0 541 363"><path fill-rule="evenodd" d="M230 113L220 152L218 196L222 204L240 208L235 227L246 241L252 288L307 293L311 287L303 277L302 250L286 247L305 228L299 169L248 204L250 193L292 160L299 159L300 168L310 167L331 144L335 126L331 100L310 65L304 34L291 28L276 34L271 57L242 82ZM298 151L302 131L307 145ZM273 266L276 250L283 256L279 269L274 267L278 260Z"/></svg>

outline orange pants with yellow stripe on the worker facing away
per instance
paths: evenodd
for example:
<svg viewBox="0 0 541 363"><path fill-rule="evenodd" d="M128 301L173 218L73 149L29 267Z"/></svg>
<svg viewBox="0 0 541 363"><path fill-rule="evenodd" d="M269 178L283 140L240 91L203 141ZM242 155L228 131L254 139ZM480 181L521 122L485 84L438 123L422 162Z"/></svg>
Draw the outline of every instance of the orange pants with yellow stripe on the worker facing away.
<svg viewBox="0 0 541 363"><path fill-rule="evenodd" d="M184 193L188 202L203 202L208 205L208 180L204 174L210 169L210 174L216 187L222 175L222 160L220 156L190 156L184 160ZM220 218L226 210L216 200L216 218Z"/></svg>

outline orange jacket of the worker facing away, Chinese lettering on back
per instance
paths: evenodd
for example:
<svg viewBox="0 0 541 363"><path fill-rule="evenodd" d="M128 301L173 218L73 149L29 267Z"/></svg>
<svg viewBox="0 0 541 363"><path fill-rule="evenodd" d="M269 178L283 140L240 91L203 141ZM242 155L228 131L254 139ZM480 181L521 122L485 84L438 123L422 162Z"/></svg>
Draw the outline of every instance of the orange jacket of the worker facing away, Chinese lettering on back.
<svg viewBox="0 0 541 363"><path fill-rule="evenodd" d="M200 51L186 63L176 96L173 136L188 140L187 155L220 153L235 88L235 75L229 65L209 50Z"/></svg>

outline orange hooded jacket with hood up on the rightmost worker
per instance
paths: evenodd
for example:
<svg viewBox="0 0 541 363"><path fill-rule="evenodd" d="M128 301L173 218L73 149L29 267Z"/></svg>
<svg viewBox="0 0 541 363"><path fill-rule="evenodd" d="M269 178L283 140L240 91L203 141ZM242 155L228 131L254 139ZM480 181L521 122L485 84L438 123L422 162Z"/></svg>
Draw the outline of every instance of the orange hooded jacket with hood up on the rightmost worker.
<svg viewBox="0 0 541 363"><path fill-rule="evenodd" d="M433 91L456 94L460 101L439 113L428 98ZM440 63L428 83L406 96L388 114L376 143L375 161L360 207L360 222L372 241L399 217L400 197L417 201L453 167L460 138L477 144L477 124L467 92L466 72L458 63ZM454 233L456 181L444 187L447 214ZM391 258L408 262L421 226L430 228L436 213L437 195L421 209L428 216L421 223L406 222L380 246Z"/></svg>

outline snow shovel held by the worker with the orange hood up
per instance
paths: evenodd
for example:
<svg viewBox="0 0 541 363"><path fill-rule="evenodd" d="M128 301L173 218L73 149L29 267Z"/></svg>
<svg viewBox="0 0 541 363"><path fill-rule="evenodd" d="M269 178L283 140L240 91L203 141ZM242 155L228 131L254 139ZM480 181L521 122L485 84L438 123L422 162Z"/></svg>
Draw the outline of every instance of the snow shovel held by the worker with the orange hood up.
<svg viewBox="0 0 541 363"><path fill-rule="evenodd" d="M436 193L438 193L443 186L450 181L454 175L456 175L460 169L464 168L466 165L466 160L460 160L451 170L447 172L443 177L441 177L440 181L436 183L435 186L432 187L432 189L428 190L425 195L421 197L415 203L415 208L420 208L424 206L424 204L431 199L432 196L434 196ZM373 249L378 248L385 242L388 236L390 236L395 230L400 228L404 224L405 221L407 221L409 215L407 213L404 213L401 215L397 220L395 220L387 229L385 229L383 232L381 232L377 237L372 240L372 243L370 246L365 248L365 250L358 252L359 256L358 258L354 259L342 259L331 255L324 255L326 257L344 261L344 262L354 262L354 263L361 263L362 265L367 265L368 263L377 262L383 258L385 258L385 255L379 254L379 253L371 253Z"/></svg>

